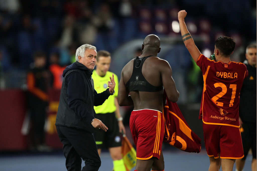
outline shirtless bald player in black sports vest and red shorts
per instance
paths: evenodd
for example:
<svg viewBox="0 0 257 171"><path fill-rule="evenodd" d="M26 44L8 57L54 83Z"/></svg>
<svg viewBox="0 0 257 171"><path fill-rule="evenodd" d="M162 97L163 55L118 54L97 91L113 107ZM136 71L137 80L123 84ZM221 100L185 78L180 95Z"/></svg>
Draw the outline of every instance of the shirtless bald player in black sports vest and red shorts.
<svg viewBox="0 0 257 171"><path fill-rule="evenodd" d="M146 36L142 50L141 56L132 59L122 69L118 104L134 105L130 130L136 145L135 171L162 171L163 87L171 102L178 100L179 92L169 63L156 57L161 50L159 37L153 34Z"/></svg>

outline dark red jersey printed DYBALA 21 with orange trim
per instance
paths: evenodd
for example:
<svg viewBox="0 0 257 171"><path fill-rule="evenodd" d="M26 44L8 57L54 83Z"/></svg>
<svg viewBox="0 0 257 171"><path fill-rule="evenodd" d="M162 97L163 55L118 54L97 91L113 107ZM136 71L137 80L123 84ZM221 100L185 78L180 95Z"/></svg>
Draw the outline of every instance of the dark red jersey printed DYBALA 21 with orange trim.
<svg viewBox="0 0 257 171"><path fill-rule="evenodd" d="M246 66L241 62L215 62L203 54L196 64L204 79L199 119L205 124L239 127L239 94L248 75Z"/></svg>

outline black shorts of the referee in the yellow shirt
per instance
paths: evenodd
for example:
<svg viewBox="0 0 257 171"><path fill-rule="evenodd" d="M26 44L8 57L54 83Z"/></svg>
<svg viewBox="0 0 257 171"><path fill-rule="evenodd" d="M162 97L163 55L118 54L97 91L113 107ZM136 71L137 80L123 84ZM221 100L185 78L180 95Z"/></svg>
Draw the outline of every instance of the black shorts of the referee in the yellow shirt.
<svg viewBox="0 0 257 171"><path fill-rule="evenodd" d="M118 121L115 113L96 114L95 118L101 120L108 128L107 132L104 130L94 130L94 137L97 148L103 147L119 147L121 146L121 134L119 133Z"/></svg>

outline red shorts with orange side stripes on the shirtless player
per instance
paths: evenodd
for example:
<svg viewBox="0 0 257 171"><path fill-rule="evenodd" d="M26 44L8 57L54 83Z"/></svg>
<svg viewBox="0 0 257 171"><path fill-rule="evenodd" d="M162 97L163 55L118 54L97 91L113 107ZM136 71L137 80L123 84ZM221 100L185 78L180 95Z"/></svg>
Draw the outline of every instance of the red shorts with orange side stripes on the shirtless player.
<svg viewBox="0 0 257 171"><path fill-rule="evenodd" d="M129 125L136 145L136 158L159 159L164 136L162 112L152 109L133 110Z"/></svg>

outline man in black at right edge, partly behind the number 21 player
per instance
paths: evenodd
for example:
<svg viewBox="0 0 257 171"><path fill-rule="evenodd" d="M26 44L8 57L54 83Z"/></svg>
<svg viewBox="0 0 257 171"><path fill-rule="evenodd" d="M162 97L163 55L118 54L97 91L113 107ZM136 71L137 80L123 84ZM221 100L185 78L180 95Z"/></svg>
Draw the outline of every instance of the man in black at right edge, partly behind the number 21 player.
<svg viewBox="0 0 257 171"><path fill-rule="evenodd" d="M245 66L248 76L240 91L239 122L244 157L236 160L236 169L242 171L249 149L252 149L252 171L256 171L256 44L246 47Z"/></svg>

